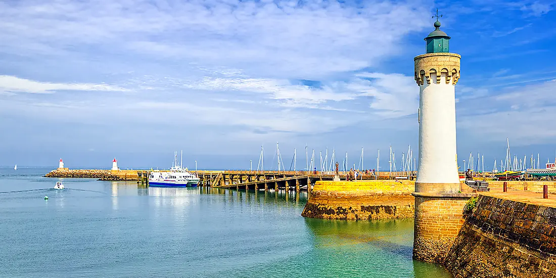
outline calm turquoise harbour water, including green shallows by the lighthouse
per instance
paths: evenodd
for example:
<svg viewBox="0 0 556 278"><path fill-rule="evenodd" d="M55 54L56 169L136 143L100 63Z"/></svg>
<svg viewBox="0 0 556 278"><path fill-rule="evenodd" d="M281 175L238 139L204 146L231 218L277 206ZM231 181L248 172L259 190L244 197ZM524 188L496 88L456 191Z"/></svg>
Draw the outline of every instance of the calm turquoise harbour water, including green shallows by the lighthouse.
<svg viewBox="0 0 556 278"><path fill-rule="evenodd" d="M2 277L449 277L411 259L413 220L305 219L306 193L284 191L57 191L45 172L0 169Z"/></svg>

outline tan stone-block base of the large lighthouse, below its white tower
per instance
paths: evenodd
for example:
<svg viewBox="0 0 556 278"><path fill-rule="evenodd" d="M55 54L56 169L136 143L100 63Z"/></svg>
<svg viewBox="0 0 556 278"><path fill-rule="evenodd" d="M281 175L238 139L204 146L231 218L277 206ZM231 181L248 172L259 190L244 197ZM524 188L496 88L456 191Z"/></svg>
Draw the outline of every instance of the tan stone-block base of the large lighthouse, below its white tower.
<svg viewBox="0 0 556 278"><path fill-rule="evenodd" d="M463 225L463 207L476 193L414 192L412 195L415 197L413 259L443 264Z"/></svg>

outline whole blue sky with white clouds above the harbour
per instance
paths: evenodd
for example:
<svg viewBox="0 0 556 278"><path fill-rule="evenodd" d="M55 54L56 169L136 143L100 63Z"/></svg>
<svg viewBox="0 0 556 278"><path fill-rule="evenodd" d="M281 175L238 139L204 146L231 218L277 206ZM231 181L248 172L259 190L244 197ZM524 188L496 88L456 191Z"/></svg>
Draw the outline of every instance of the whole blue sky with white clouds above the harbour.
<svg viewBox="0 0 556 278"><path fill-rule="evenodd" d="M556 155L556 3L0 0L0 165L356 168L418 157L419 87L439 9L458 160ZM364 148L364 165L361 165Z"/></svg>

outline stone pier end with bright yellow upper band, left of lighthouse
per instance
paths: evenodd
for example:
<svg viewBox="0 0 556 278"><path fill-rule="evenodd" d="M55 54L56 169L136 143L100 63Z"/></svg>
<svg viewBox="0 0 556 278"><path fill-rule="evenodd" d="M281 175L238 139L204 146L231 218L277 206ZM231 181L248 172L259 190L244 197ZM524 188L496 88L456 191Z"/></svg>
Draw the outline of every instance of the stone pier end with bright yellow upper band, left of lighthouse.
<svg viewBox="0 0 556 278"><path fill-rule="evenodd" d="M337 220L410 218L412 181L317 181L302 216Z"/></svg>

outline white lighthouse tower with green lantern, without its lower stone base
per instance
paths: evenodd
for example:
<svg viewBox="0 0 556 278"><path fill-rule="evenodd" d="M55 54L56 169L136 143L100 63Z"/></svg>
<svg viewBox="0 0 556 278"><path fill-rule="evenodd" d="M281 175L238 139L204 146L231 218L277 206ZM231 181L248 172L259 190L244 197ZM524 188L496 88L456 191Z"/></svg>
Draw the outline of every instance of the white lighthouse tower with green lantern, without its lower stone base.
<svg viewBox="0 0 556 278"><path fill-rule="evenodd" d="M449 53L450 37L440 22L425 38L426 54L414 58L419 86L419 166L416 192L457 193L458 161L455 137L455 85L459 54Z"/></svg>

